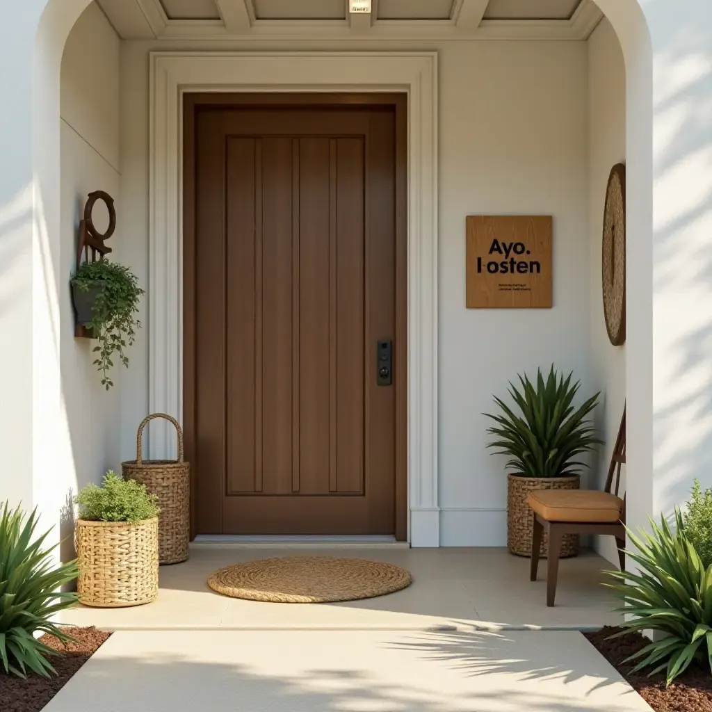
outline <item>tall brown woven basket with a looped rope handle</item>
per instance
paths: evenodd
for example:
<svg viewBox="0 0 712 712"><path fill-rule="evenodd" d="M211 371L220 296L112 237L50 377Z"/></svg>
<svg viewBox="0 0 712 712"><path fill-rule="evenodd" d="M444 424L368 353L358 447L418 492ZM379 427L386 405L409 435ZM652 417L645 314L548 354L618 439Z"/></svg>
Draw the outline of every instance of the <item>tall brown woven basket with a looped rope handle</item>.
<svg viewBox="0 0 712 712"><path fill-rule="evenodd" d="M142 460L145 426L156 418L171 422L178 433L177 460ZM163 413L143 420L136 437L136 459L121 464L125 478L145 485L158 498L158 555L162 564L179 564L188 558L190 540L190 465L183 459L183 431L178 422Z"/></svg>

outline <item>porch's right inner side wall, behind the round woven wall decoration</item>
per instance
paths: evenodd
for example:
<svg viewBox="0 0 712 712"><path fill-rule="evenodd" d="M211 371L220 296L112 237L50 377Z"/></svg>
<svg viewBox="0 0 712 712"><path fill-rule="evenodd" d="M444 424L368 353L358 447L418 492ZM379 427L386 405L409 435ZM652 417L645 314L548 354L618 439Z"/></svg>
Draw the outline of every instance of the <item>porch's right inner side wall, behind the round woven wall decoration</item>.
<svg viewBox="0 0 712 712"><path fill-rule="evenodd" d="M601 251L603 207L609 172L626 157L626 78L623 53L616 33L604 20L588 41L589 88L589 231L591 387L601 391L597 426L606 441L596 462L597 486L602 488L623 414L626 392L625 345L613 346L603 315ZM625 468L623 469L623 474ZM625 491L624 476L622 489ZM600 553L618 562L611 537L601 537Z"/></svg>

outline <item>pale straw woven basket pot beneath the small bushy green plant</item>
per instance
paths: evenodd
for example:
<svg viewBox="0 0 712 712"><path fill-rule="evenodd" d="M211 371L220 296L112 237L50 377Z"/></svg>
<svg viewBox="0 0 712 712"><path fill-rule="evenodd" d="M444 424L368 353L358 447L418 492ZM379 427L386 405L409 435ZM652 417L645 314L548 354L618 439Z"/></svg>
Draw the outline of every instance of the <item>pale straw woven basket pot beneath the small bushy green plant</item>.
<svg viewBox="0 0 712 712"><path fill-rule="evenodd" d="M90 522L76 532L80 602L95 608L141 606L158 595L158 518Z"/></svg>

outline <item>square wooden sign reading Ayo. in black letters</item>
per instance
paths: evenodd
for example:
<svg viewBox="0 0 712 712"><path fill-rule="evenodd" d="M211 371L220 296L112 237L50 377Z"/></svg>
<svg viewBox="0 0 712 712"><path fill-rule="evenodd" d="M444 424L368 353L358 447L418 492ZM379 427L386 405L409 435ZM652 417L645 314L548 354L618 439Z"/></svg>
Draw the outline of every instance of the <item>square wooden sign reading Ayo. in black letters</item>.
<svg viewBox="0 0 712 712"><path fill-rule="evenodd" d="M467 308L552 307L552 217L467 218Z"/></svg>

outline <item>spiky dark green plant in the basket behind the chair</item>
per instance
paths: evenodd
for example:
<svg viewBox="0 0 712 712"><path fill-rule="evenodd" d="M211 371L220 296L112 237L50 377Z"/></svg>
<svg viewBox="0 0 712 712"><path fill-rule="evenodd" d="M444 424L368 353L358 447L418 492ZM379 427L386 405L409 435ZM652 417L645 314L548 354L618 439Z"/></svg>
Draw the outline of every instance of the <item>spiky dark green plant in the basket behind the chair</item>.
<svg viewBox="0 0 712 712"><path fill-rule="evenodd" d="M569 477L577 474L578 468L587 467L575 457L602 444L585 420L597 406L599 394L575 410L572 402L580 381L572 385L572 376L570 373L564 379L553 366L546 381L538 370L536 384L526 375L519 376L521 390L510 383L509 393L520 415L495 397L502 414L485 414L497 424L487 429L497 438L488 448L511 457L507 469L527 477Z"/></svg>

